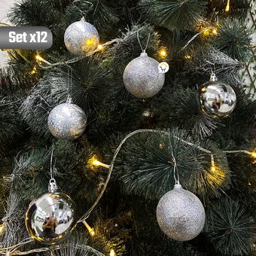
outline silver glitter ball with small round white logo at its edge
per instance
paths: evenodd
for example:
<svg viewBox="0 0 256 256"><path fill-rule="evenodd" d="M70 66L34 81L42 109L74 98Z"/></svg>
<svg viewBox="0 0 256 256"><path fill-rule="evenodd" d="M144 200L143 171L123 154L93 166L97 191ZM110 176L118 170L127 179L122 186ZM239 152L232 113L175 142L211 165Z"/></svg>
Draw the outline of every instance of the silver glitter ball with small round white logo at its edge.
<svg viewBox="0 0 256 256"><path fill-rule="evenodd" d="M158 71L159 62L141 53L124 69L123 84L129 93L137 98L149 98L156 95L163 87L165 75Z"/></svg>

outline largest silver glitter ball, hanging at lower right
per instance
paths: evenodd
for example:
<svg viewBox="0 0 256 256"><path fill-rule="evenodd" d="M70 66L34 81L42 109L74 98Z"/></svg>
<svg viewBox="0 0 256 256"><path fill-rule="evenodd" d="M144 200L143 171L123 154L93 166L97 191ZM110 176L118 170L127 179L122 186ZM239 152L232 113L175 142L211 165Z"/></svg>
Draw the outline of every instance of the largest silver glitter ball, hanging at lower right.
<svg viewBox="0 0 256 256"><path fill-rule="evenodd" d="M194 239L203 230L205 220L201 201L180 184L175 184L173 190L164 194L157 205L160 229L177 241Z"/></svg>

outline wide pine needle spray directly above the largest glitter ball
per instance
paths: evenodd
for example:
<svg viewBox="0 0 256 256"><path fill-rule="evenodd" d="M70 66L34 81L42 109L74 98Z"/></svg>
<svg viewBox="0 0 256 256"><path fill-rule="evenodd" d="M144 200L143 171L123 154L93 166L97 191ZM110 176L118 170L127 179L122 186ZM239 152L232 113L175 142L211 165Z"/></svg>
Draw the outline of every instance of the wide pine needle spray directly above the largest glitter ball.
<svg viewBox="0 0 256 256"><path fill-rule="evenodd" d="M169 142L168 138L159 132L146 137L142 135L126 143L120 151L113 173L123 192L155 200L172 189L174 180L169 150L171 143L181 184L194 194L199 194L204 200L220 197L230 184L230 171L221 151L209 141L195 143L212 149L217 169L215 172L211 169L209 154L204 155L196 148L187 147L180 142L180 139L191 142L184 132L172 130L171 138Z"/></svg>

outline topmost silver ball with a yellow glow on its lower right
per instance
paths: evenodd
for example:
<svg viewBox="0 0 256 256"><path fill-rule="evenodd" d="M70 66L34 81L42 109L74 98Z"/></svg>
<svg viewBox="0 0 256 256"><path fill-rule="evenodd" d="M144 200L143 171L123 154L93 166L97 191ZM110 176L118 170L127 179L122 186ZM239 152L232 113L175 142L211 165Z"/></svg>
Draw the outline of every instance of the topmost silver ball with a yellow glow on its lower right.
<svg viewBox="0 0 256 256"><path fill-rule="evenodd" d="M64 42L71 53L83 55L90 53L98 46L99 33L92 24L80 20L66 29Z"/></svg>

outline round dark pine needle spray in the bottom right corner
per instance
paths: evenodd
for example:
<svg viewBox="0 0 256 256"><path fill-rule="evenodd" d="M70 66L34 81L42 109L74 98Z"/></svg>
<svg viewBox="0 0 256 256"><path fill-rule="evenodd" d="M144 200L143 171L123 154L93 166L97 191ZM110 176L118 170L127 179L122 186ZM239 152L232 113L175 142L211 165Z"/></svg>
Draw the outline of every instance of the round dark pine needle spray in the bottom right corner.
<svg viewBox="0 0 256 256"><path fill-rule="evenodd" d="M254 247L254 221L239 201L228 198L209 209L206 232L224 255L250 254Z"/></svg>

